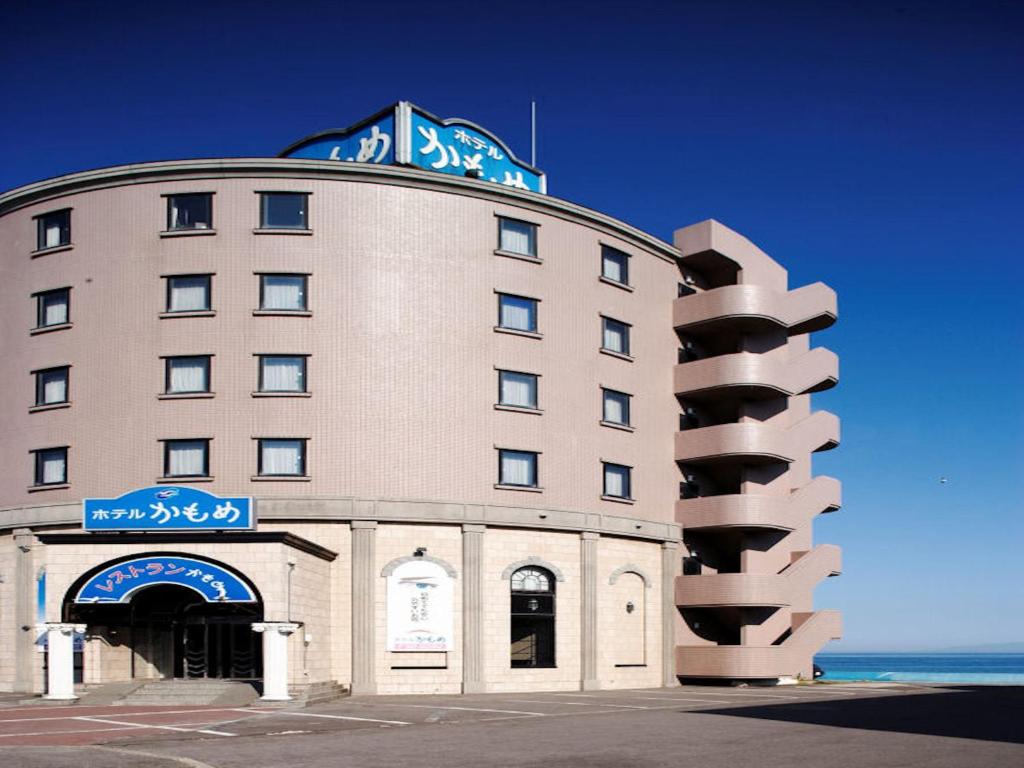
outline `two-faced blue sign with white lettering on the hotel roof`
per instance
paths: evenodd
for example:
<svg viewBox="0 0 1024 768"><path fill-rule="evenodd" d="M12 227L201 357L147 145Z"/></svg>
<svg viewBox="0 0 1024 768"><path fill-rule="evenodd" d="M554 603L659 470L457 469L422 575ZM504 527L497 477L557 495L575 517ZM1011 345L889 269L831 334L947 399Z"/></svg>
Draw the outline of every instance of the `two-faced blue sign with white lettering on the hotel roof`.
<svg viewBox="0 0 1024 768"><path fill-rule="evenodd" d="M467 120L441 120L409 101L348 128L307 136L281 157L412 165L542 195L548 191L544 173L517 159L486 129Z"/></svg>

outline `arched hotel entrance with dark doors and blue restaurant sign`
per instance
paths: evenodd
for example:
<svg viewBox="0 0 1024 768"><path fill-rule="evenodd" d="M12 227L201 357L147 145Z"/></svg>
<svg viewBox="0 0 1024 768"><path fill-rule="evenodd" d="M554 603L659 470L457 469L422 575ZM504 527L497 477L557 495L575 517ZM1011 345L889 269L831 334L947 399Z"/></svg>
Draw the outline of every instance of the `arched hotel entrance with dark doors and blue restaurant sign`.
<svg viewBox="0 0 1024 768"><path fill-rule="evenodd" d="M262 676L255 588L222 563L160 553L104 563L69 590L65 621L87 626L92 679Z"/></svg>

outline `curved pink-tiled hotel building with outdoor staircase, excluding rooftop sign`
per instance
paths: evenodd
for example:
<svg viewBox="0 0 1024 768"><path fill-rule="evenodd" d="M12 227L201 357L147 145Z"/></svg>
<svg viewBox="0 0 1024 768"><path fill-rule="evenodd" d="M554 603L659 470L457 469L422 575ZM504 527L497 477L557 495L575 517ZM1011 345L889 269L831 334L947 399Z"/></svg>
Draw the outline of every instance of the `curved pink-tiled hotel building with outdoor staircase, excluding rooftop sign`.
<svg viewBox="0 0 1024 768"><path fill-rule="evenodd" d="M835 295L714 221L339 159L0 196L0 687L809 677Z"/></svg>

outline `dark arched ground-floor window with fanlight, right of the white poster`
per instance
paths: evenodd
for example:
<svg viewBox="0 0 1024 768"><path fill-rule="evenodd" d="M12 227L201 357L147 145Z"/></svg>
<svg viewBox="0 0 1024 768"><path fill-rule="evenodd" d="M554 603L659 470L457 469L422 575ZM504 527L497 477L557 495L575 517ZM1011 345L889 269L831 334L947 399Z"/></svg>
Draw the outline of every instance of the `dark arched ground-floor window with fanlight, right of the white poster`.
<svg viewBox="0 0 1024 768"><path fill-rule="evenodd" d="M555 666L555 578L537 565L512 574L512 667Z"/></svg>

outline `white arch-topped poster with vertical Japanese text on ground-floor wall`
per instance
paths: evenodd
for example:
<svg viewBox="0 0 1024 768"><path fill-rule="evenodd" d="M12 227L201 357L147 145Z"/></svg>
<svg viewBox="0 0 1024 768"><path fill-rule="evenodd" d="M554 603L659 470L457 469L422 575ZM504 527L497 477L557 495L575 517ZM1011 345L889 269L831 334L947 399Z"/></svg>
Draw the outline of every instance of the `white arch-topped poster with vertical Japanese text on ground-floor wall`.
<svg viewBox="0 0 1024 768"><path fill-rule="evenodd" d="M452 578L417 558L387 578L387 649L452 650Z"/></svg>

